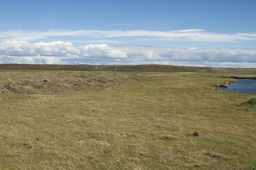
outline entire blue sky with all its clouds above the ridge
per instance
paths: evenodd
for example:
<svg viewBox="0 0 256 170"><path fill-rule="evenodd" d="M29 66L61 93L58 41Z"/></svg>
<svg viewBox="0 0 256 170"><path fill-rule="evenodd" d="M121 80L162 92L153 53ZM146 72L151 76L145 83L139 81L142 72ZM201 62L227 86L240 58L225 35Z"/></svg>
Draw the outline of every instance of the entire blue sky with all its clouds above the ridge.
<svg viewBox="0 0 256 170"><path fill-rule="evenodd" d="M256 0L2 0L0 64L256 68Z"/></svg>

